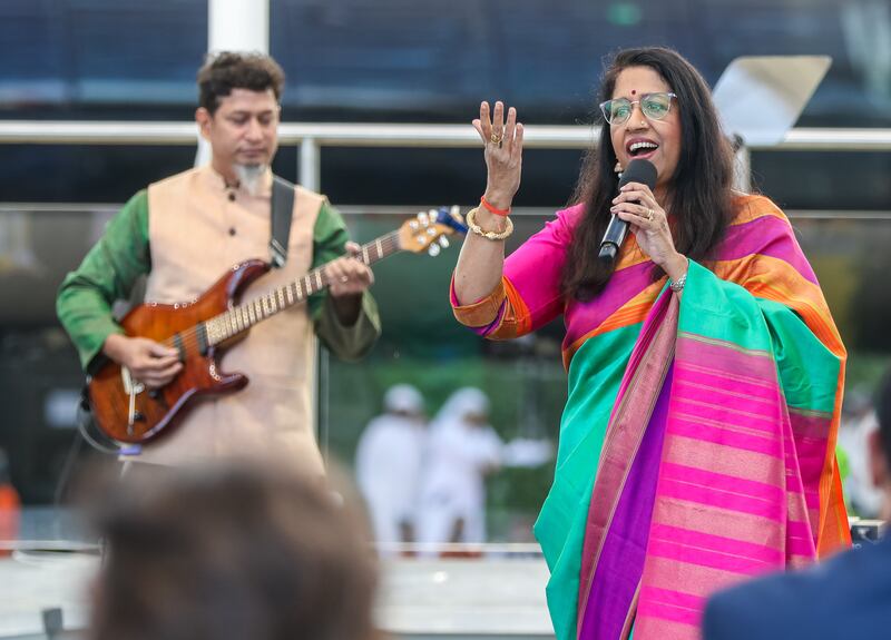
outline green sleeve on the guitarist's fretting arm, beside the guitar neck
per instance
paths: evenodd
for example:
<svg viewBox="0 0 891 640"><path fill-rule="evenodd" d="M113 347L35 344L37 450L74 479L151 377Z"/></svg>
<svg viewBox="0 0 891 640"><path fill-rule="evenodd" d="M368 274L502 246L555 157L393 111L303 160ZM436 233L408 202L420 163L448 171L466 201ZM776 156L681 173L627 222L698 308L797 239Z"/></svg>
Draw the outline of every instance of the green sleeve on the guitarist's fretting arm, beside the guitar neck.
<svg viewBox="0 0 891 640"><path fill-rule="evenodd" d="M350 239L343 217L326 200L319 210L313 229L313 264L311 268L321 267L325 263L342 256ZM310 316L313 318L315 335L337 357L358 360L366 355L381 335L381 319L378 315L378 303L365 291L362 294L362 308L359 318L352 326L344 326L337 318L334 305L327 291L310 296L307 301Z"/></svg>

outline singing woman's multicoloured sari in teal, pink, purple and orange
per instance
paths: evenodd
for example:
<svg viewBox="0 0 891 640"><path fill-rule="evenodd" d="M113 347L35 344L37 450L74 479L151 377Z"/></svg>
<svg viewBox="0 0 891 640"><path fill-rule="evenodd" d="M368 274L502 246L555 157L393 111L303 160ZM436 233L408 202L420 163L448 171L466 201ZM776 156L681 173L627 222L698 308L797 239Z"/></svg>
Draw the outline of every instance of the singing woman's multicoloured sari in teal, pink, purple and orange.
<svg viewBox="0 0 891 640"><path fill-rule="evenodd" d="M492 339L562 314L568 400L535 526L559 640L694 639L714 590L850 543L834 456L845 352L783 213L736 215L683 296L634 237L591 302L559 294L581 207L456 317Z"/></svg>

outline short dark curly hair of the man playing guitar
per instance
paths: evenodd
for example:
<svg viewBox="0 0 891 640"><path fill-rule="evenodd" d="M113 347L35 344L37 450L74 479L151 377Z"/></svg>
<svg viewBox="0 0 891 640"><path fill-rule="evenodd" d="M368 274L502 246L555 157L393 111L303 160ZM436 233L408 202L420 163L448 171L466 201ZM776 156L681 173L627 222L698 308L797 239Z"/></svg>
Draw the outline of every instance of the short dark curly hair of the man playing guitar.
<svg viewBox="0 0 891 640"><path fill-rule="evenodd" d="M208 55L204 66L198 69L198 106L213 115L219 107L221 98L232 93L233 89L272 89L277 102L282 99L284 85L285 72L268 56L222 51Z"/></svg>

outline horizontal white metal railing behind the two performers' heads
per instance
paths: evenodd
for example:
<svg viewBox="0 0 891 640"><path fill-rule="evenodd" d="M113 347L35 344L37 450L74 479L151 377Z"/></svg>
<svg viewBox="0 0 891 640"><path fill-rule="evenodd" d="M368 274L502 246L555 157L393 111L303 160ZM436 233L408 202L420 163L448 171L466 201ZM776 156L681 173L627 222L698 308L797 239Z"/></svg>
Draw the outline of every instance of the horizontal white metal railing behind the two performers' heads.
<svg viewBox="0 0 891 640"><path fill-rule="evenodd" d="M596 139L591 126L526 127L523 145L539 149L585 149ZM278 128L282 145L300 147L298 181L320 186L320 151L323 147L468 148L480 144L468 125L382 125L290 122ZM127 121L0 121L0 145L195 145L194 122ZM889 151L891 129L799 128L773 146L748 150L777 151Z"/></svg>

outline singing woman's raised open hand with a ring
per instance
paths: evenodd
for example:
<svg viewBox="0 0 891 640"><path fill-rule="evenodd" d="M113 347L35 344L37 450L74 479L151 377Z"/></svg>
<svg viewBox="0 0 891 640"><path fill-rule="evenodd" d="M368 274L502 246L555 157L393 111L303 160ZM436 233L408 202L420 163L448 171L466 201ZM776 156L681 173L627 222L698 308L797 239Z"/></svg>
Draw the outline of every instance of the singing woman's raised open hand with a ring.
<svg viewBox="0 0 891 640"><path fill-rule="evenodd" d="M505 105L500 100L489 114L489 102L480 105L480 117L473 128L482 138L486 168L486 200L499 209L510 208L517 189L520 188L522 169L522 125L517 121L517 109L508 109L505 121Z"/></svg>

